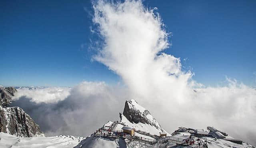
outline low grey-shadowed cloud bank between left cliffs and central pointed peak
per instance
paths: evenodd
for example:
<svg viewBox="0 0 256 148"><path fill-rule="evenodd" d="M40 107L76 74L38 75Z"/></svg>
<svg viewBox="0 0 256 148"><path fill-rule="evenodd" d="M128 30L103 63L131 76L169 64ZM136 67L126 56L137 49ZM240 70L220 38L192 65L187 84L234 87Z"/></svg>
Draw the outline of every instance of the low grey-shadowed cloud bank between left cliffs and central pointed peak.
<svg viewBox="0 0 256 148"><path fill-rule="evenodd" d="M11 105L24 109L48 136L88 136L106 121L119 120L129 99L125 89L104 82L82 82L68 89L67 96L56 90L67 93L63 88L18 90Z"/></svg>

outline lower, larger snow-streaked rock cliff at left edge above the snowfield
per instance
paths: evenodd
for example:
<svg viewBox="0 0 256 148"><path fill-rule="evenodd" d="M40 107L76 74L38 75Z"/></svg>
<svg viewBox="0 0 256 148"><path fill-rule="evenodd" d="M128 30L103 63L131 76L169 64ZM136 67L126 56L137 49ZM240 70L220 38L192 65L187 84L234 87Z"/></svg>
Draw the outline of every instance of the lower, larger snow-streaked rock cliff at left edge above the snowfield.
<svg viewBox="0 0 256 148"><path fill-rule="evenodd" d="M20 107L6 107L1 111L1 132L18 137L44 136L33 119Z"/></svg>

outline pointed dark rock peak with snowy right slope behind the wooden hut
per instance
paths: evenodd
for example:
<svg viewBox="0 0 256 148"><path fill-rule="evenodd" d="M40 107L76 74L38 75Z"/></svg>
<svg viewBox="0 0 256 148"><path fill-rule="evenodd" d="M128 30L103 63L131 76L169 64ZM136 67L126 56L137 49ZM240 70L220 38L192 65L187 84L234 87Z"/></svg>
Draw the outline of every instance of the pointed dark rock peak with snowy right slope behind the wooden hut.
<svg viewBox="0 0 256 148"><path fill-rule="evenodd" d="M123 115L131 123L144 123L156 127L156 129L164 131L156 119L144 107L138 105L134 99L125 102ZM120 119L122 115L120 114ZM122 119L121 119L122 120Z"/></svg>

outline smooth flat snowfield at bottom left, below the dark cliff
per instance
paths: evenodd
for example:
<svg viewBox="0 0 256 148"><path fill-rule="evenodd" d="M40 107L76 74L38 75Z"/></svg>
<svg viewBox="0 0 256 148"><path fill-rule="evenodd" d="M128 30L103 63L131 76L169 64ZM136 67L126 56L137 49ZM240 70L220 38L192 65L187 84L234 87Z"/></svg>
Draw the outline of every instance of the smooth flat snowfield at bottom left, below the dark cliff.
<svg viewBox="0 0 256 148"><path fill-rule="evenodd" d="M74 148L83 139L75 136L21 138L0 132L0 148Z"/></svg>

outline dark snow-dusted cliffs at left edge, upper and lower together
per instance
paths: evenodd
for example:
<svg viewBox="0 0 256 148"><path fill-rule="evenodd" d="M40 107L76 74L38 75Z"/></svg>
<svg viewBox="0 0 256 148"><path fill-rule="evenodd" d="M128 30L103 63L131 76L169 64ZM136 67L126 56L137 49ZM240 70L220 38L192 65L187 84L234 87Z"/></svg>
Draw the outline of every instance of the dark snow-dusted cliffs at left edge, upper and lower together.
<svg viewBox="0 0 256 148"><path fill-rule="evenodd" d="M17 90L0 86L0 132L19 137L44 136L33 119L20 107L6 107Z"/></svg>

